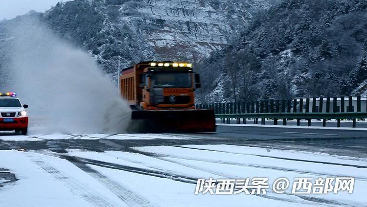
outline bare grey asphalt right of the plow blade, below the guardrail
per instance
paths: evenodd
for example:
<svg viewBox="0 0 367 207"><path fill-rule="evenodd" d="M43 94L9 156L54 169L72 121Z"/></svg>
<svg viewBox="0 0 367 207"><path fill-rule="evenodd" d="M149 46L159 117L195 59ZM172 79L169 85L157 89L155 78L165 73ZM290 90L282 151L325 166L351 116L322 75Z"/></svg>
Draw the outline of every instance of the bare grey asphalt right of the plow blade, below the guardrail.
<svg viewBox="0 0 367 207"><path fill-rule="evenodd" d="M209 136L210 135L206 135ZM217 126L224 143L367 158L367 131L344 129ZM234 142L234 140L237 140Z"/></svg>

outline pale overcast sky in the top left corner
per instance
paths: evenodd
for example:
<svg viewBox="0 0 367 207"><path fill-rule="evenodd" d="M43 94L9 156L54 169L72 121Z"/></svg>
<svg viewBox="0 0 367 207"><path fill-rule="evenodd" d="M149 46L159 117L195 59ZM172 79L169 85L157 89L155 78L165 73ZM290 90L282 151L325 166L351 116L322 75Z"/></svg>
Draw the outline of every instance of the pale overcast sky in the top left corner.
<svg viewBox="0 0 367 207"><path fill-rule="evenodd" d="M13 19L30 10L44 12L59 1L61 0L0 0L0 21L2 19Z"/></svg>

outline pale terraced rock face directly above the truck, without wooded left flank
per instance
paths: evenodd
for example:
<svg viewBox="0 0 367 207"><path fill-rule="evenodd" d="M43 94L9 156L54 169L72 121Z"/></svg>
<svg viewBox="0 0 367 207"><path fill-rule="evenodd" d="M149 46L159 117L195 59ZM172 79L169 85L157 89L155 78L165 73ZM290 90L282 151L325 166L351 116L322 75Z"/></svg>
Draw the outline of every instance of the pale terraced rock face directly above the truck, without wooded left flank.
<svg viewBox="0 0 367 207"><path fill-rule="evenodd" d="M242 30L263 0L143 0L107 4L125 24L147 40L163 59L200 60L221 49Z"/></svg>

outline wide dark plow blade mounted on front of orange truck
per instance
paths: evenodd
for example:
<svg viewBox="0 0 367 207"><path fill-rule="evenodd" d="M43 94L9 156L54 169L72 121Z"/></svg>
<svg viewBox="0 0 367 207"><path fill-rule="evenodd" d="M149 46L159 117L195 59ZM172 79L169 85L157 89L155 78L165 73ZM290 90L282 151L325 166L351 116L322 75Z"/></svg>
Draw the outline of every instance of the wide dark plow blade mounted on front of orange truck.
<svg viewBox="0 0 367 207"><path fill-rule="evenodd" d="M213 110L133 111L139 132L215 132Z"/></svg>

